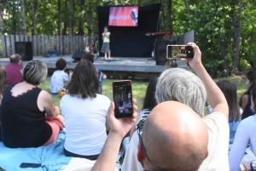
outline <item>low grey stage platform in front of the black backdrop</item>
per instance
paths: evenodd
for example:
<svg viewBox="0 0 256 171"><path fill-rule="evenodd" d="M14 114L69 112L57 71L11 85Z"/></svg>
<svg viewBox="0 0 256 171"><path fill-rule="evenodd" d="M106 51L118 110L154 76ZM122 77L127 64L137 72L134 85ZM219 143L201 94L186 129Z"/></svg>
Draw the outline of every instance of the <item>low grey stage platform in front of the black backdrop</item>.
<svg viewBox="0 0 256 171"><path fill-rule="evenodd" d="M74 63L72 55L64 55L59 57L43 57L35 56L33 60L42 60L49 68L49 73L55 70L55 62L59 58L63 58L67 61L67 69L74 69L77 66L77 62ZM124 57L112 57L113 60L103 60L103 57L99 57L95 60L94 65L97 69L103 71L108 77L153 77L159 76L160 72L164 70L164 66L156 66L155 60L150 58L124 58ZM6 66L9 64L9 58L0 59L0 64ZM26 61L23 61L23 66ZM177 60L177 66L186 68L186 62Z"/></svg>

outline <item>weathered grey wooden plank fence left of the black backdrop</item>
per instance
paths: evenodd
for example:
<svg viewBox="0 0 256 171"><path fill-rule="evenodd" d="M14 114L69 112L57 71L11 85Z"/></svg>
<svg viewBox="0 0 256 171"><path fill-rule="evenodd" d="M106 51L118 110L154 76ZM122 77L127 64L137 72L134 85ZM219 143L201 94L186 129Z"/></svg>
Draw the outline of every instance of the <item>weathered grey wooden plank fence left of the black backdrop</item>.
<svg viewBox="0 0 256 171"><path fill-rule="evenodd" d="M33 56L46 56L49 49L55 47L59 54L73 54L84 51L88 37L84 36L38 36L38 35L2 35L0 55L9 57L15 54L15 42L32 42Z"/></svg>

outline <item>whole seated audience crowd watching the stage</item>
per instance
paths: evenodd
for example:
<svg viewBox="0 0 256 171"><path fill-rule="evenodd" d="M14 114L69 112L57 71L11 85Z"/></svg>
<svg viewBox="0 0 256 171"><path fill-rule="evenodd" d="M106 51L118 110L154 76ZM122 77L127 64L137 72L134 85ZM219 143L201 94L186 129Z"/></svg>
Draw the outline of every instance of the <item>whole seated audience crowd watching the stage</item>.
<svg viewBox="0 0 256 171"><path fill-rule="evenodd" d="M250 170L256 163L256 70L247 72L247 92L238 102L236 84L214 83L200 48L188 45L195 52L192 60L183 59L189 71L169 60L149 81L143 109L137 113L132 100L133 116L119 119L102 95L107 76L93 65L92 54L69 74L66 60L56 61L50 93L67 89L60 108L38 88L47 66L32 60L23 68L20 55L11 55L9 65L0 65L0 140L9 148L50 145L65 128L64 154L96 160L93 171L113 171L121 144L124 171Z"/></svg>

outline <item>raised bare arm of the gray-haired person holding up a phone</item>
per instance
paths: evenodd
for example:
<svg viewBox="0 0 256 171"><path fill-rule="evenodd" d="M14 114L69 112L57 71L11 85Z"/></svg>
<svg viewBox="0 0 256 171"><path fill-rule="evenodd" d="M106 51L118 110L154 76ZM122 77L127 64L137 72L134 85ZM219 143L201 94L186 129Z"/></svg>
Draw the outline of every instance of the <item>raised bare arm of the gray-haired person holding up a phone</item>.
<svg viewBox="0 0 256 171"><path fill-rule="evenodd" d="M229 107L222 91L218 88L216 83L209 76L205 67L201 63L201 50L195 43L188 43L188 46L194 48L194 58L189 60L189 66L195 71L197 77L199 77L204 83L207 89L207 98L209 103L212 105L212 112L218 111L223 113L224 116L229 120Z"/></svg>

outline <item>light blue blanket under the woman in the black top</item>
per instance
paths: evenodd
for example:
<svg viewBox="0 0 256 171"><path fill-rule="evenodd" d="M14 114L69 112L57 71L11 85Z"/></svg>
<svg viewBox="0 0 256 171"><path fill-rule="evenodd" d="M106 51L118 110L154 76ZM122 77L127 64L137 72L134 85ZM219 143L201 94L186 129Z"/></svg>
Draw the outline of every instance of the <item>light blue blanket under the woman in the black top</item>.
<svg viewBox="0 0 256 171"><path fill-rule="evenodd" d="M41 171L59 170L70 162L63 151L65 132L61 132L56 143L38 148L10 149L0 142L0 167L7 170ZM40 168L20 168L21 162L40 163Z"/></svg>

